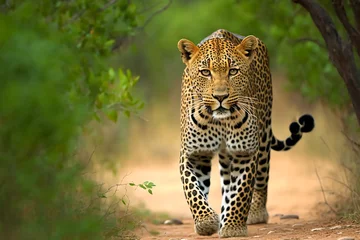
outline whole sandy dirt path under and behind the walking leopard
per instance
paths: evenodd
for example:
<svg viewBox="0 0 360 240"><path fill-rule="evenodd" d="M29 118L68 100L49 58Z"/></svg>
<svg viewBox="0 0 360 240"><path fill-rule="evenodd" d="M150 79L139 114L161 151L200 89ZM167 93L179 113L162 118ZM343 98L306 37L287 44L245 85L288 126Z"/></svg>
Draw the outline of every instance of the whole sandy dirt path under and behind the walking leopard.
<svg viewBox="0 0 360 240"><path fill-rule="evenodd" d="M290 156L289 156L290 155ZM296 156L297 155L297 156ZM209 201L219 212L221 204L220 178L213 161L212 186ZM298 154L273 153L270 172L268 210L269 224L249 226L248 238L237 239L360 239L360 226L349 221L338 221L332 218L328 206L324 204L323 193L315 166L321 178L326 178L336 171L335 166L321 159L306 159ZM157 184L154 195L149 196L142 189L133 191L131 199L145 203L153 212L165 212L169 218L183 221L182 225L154 225L144 223L138 234L145 240L181 240L181 239L216 239L200 237L194 233L193 221L186 205L179 180L177 164L160 164L156 166L129 166L131 180L143 182L151 179ZM322 181L328 189L332 184ZM334 187L334 186L332 186ZM327 195L332 204L336 198ZM136 205L136 202L133 202ZM280 220L277 214L296 214L300 219ZM345 238L346 239L346 238Z"/></svg>

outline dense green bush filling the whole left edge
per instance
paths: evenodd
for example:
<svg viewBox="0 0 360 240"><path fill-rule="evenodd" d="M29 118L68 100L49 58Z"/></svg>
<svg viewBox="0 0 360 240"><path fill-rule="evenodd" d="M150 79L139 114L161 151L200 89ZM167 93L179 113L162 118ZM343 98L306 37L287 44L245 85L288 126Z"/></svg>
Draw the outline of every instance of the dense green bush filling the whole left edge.
<svg viewBox="0 0 360 240"><path fill-rule="evenodd" d="M136 6L1 4L0 238L124 239L126 221L110 216L107 197L84 174L79 137L94 116L116 122L118 111L142 105L131 95L138 77L107 60L116 38L135 33Z"/></svg>

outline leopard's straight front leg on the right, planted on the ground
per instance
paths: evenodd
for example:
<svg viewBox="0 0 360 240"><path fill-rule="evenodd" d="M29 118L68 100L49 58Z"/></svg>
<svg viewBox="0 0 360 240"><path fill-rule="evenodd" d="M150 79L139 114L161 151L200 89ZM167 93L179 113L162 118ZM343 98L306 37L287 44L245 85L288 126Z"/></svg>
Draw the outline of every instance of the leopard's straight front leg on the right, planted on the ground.
<svg viewBox="0 0 360 240"><path fill-rule="evenodd" d="M223 180L219 235L247 236L246 220L255 183L257 153L250 156L222 155L219 159Z"/></svg>

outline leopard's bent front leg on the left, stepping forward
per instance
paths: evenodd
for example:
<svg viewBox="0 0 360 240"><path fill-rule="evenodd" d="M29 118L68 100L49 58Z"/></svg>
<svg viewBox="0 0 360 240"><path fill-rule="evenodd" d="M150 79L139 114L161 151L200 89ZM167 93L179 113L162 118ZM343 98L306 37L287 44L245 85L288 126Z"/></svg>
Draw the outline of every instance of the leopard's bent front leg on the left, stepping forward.
<svg viewBox="0 0 360 240"><path fill-rule="evenodd" d="M180 156L183 190L199 235L212 235L219 230L219 217L209 206L207 198L212 156L212 153Z"/></svg>

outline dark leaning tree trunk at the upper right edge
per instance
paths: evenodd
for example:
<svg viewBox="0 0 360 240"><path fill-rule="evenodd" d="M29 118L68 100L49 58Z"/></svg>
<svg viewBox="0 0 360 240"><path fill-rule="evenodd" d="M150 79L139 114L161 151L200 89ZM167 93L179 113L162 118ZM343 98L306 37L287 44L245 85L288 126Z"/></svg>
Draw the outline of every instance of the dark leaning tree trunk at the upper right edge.
<svg viewBox="0 0 360 240"><path fill-rule="evenodd" d="M360 51L359 42L353 42L353 44L350 41L344 42L336 30L335 24L329 14L316 1L293 0L293 2L300 4L310 13L316 27L323 36L330 60L345 82L360 126L360 73L356 67L353 52L353 47L357 52ZM353 3L354 2L357 1L353 0ZM349 34L349 38L352 40L359 39L359 36L356 35L359 33L359 30L353 28L348 22L342 1L333 0L333 3L340 21ZM359 18L359 16L356 17Z"/></svg>

